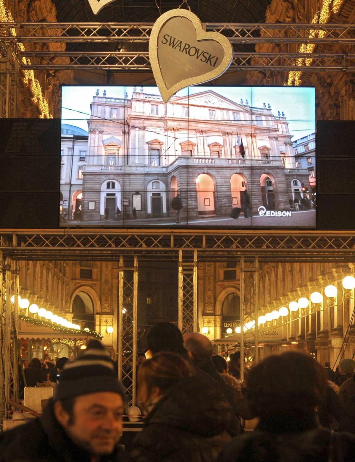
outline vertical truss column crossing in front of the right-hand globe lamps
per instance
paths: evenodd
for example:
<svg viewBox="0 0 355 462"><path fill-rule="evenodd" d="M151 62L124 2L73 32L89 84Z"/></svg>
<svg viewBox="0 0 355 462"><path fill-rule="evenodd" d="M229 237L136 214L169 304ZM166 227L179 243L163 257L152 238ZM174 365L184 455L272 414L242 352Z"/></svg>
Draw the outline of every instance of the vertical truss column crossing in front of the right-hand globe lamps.
<svg viewBox="0 0 355 462"><path fill-rule="evenodd" d="M240 378L245 366L259 359L258 345L259 261L240 257ZM246 352L246 355L245 355ZM246 358L246 362L244 361Z"/></svg>

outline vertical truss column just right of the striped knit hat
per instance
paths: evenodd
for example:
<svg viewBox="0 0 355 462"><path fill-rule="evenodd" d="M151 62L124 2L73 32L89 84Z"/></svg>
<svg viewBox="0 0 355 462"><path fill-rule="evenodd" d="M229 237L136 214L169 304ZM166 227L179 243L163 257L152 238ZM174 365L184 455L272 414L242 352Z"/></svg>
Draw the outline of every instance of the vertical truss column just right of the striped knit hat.
<svg viewBox="0 0 355 462"><path fill-rule="evenodd" d="M135 406L137 372L137 300L138 258L133 267L125 266L127 257L120 256L118 298L118 378L128 395L128 406Z"/></svg>

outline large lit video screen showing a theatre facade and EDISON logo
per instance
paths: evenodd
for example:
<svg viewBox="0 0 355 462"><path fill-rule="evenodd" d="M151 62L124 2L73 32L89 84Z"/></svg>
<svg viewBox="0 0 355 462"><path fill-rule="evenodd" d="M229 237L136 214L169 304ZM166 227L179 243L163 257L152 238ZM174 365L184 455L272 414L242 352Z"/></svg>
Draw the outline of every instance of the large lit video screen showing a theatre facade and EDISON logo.
<svg viewBox="0 0 355 462"><path fill-rule="evenodd" d="M316 225L313 88L67 86L61 132L61 225Z"/></svg>

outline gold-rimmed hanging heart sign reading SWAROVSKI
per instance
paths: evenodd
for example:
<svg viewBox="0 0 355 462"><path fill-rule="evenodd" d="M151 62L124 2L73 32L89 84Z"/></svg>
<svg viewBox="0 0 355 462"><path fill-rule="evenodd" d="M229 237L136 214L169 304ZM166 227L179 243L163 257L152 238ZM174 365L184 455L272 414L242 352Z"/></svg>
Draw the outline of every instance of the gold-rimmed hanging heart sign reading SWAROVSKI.
<svg viewBox="0 0 355 462"><path fill-rule="evenodd" d="M229 40L218 32L205 32L190 11L168 11L153 25L149 59L165 103L182 88L219 77L232 58Z"/></svg>

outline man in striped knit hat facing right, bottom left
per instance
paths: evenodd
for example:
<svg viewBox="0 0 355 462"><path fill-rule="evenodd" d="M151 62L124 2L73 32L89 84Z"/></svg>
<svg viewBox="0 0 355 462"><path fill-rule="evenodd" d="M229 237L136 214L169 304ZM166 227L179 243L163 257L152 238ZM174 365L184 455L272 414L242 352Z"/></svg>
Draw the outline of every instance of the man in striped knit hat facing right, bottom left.
<svg viewBox="0 0 355 462"><path fill-rule="evenodd" d="M117 462L124 390L110 353L89 342L67 361L40 419L0 436L0 462Z"/></svg>

